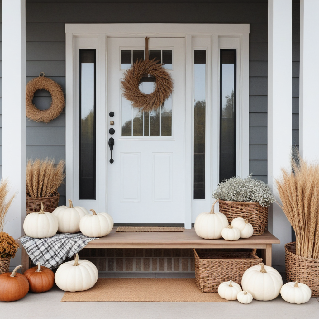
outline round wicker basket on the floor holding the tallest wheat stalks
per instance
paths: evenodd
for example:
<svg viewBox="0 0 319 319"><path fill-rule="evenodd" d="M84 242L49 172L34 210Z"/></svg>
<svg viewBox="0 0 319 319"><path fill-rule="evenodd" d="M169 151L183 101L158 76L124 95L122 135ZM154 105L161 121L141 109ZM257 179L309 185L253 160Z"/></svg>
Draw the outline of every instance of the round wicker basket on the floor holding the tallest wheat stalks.
<svg viewBox="0 0 319 319"><path fill-rule="evenodd" d="M319 258L306 258L296 255L296 242L285 245L286 279L300 281L311 289L312 297L319 297Z"/></svg>

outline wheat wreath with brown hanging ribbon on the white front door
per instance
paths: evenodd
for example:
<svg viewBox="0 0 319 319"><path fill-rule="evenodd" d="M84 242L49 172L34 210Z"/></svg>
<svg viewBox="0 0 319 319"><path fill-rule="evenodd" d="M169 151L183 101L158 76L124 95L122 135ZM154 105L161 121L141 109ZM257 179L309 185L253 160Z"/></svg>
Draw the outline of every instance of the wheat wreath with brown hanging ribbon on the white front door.
<svg viewBox="0 0 319 319"><path fill-rule="evenodd" d="M173 92L173 80L162 63L148 58L148 37L145 38L145 60L136 61L126 70L121 82L123 96L132 102L134 108L149 112L158 109ZM156 80L155 90L150 94L140 91L139 84L143 77L152 75Z"/></svg>

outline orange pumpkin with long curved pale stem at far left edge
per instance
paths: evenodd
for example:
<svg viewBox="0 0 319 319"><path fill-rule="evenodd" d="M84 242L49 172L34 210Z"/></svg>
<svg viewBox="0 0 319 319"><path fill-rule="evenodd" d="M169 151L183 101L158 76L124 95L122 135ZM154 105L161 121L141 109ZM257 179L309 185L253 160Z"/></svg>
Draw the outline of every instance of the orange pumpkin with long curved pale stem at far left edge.
<svg viewBox="0 0 319 319"><path fill-rule="evenodd" d="M17 273L17 266L11 272L0 275L0 301L14 301L23 298L29 291L29 282L26 276Z"/></svg>

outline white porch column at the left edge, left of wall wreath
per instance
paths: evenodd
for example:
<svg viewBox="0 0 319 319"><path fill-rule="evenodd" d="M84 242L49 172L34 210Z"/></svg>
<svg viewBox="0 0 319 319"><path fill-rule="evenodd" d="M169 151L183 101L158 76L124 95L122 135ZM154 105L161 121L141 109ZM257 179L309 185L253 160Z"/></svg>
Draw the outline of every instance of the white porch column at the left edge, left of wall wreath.
<svg viewBox="0 0 319 319"><path fill-rule="evenodd" d="M18 238L26 216L25 0L2 1L2 60L2 176L10 180L10 194L17 192L4 231Z"/></svg>

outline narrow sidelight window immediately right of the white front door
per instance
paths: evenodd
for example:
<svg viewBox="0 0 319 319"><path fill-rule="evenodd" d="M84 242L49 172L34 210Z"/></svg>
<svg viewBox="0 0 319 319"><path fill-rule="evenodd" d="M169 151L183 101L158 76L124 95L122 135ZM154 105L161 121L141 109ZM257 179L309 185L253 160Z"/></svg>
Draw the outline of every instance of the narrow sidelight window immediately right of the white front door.
<svg viewBox="0 0 319 319"><path fill-rule="evenodd" d="M206 50L194 50L194 199L205 199Z"/></svg>

